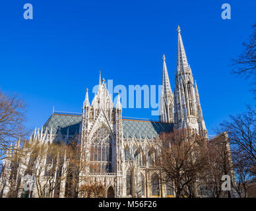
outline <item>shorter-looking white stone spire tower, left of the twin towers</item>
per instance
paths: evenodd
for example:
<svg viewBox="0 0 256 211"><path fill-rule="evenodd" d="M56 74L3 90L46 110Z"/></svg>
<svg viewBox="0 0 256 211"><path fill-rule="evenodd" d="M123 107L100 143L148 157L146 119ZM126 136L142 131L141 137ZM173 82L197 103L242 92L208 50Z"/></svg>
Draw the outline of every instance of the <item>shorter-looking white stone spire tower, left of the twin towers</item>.
<svg viewBox="0 0 256 211"><path fill-rule="evenodd" d="M159 121L164 123L174 123L174 95L172 94L165 55L163 55L162 59L162 93L160 100Z"/></svg>

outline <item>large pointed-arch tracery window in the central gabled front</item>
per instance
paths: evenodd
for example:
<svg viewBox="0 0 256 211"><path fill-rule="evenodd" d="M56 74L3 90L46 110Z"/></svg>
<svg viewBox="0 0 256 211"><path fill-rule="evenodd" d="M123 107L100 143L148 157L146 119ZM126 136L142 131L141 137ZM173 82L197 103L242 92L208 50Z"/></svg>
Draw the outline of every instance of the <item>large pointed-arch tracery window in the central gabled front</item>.
<svg viewBox="0 0 256 211"><path fill-rule="evenodd" d="M90 172L112 172L112 146L110 131L103 125L92 136L90 148Z"/></svg>

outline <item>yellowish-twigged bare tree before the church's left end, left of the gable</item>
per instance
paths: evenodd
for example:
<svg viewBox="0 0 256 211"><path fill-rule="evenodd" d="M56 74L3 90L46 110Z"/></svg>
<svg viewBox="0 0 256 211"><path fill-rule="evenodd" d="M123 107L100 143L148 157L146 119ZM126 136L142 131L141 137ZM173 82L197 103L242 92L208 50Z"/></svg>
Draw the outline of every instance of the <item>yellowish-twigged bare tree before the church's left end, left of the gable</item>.
<svg viewBox="0 0 256 211"><path fill-rule="evenodd" d="M24 142L20 158L20 174L32 175L35 179L35 197L46 198L56 196L61 182L65 181L67 165L65 146L40 141Z"/></svg>

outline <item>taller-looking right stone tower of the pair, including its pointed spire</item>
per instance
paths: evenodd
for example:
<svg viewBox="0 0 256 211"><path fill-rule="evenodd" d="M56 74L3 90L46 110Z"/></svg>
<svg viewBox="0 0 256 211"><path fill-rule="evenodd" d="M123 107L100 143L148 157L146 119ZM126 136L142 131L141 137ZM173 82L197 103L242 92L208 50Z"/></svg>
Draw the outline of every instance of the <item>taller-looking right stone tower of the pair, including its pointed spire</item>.
<svg viewBox="0 0 256 211"><path fill-rule="evenodd" d="M175 76L175 127L189 128L195 133L207 136L203 119L199 92L194 82L191 68L187 62L180 28L177 26L177 73Z"/></svg>

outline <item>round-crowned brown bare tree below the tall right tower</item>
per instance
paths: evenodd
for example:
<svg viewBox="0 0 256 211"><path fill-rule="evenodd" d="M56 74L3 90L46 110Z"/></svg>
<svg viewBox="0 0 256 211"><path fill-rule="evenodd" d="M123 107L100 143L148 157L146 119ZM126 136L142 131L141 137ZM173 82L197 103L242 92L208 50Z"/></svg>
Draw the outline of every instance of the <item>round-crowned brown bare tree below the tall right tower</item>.
<svg viewBox="0 0 256 211"><path fill-rule="evenodd" d="M162 171L161 183L172 181L176 197L197 196L198 185L205 177L207 145L204 137L188 129L160 135L156 166Z"/></svg>

